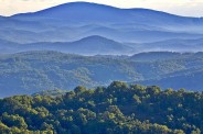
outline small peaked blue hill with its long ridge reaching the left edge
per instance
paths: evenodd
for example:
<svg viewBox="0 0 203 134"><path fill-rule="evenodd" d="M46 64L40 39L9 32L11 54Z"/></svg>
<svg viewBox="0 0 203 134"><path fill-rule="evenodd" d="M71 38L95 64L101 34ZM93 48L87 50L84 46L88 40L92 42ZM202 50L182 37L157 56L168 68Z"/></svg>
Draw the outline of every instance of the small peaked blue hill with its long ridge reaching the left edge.
<svg viewBox="0 0 203 134"><path fill-rule="evenodd" d="M26 51L57 51L79 55L128 55L135 53L130 46L98 35L87 36L75 42L39 42L31 44L17 44L0 40L0 51L2 54Z"/></svg>

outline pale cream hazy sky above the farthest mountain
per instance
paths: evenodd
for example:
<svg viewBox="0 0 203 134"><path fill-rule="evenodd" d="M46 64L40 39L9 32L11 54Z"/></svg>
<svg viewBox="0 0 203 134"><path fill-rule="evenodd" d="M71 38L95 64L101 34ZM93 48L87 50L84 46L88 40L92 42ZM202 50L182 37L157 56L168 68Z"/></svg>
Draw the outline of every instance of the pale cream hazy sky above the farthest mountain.
<svg viewBox="0 0 203 134"><path fill-rule="evenodd" d="M0 15L33 12L76 0L0 0ZM203 0L84 0L119 8L147 8L179 15L203 16Z"/></svg>

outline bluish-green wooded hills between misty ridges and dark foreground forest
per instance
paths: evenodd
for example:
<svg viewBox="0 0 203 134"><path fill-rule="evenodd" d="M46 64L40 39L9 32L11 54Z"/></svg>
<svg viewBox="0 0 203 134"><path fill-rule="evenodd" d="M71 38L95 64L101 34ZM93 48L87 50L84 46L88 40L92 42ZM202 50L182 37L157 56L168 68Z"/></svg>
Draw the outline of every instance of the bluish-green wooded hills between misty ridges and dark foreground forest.
<svg viewBox="0 0 203 134"><path fill-rule="evenodd" d="M47 89L71 90L78 85L94 88L115 80L201 91L202 68L203 53L81 56L43 51L0 55L0 98Z"/></svg>

